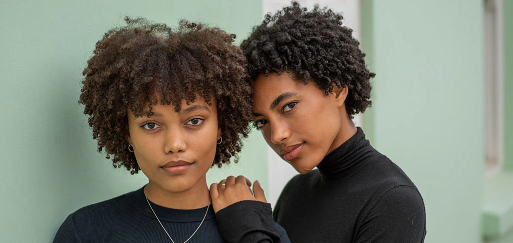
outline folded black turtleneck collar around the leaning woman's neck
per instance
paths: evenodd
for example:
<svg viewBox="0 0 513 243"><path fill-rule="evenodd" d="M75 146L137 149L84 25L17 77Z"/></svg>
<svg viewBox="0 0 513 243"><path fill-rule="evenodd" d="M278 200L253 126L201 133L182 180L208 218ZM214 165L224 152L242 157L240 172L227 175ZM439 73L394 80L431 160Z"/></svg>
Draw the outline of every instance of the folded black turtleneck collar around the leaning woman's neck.
<svg viewBox="0 0 513 243"><path fill-rule="evenodd" d="M372 152L376 150L358 127L357 133L326 155L317 168L325 181L343 180L362 169L368 161L366 158L376 155Z"/></svg>

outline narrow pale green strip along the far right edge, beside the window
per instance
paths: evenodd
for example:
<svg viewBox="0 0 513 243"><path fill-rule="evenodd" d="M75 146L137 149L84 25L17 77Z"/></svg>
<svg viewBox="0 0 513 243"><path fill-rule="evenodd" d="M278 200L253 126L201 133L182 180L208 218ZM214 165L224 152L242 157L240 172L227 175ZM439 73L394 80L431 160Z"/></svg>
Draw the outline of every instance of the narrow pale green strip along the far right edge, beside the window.
<svg viewBox="0 0 513 243"><path fill-rule="evenodd" d="M504 164L513 171L513 1L503 1Z"/></svg>

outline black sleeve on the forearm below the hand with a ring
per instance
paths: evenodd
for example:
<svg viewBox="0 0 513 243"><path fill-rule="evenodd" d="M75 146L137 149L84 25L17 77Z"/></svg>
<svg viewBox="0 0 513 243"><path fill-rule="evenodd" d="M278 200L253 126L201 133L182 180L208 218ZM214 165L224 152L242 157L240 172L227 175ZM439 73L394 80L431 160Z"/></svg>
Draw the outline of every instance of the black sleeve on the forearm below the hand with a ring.
<svg viewBox="0 0 513 243"><path fill-rule="evenodd" d="M285 230L272 219L271 205L260 201L240 201L215 214L221 235L227 242L286 243Z"/></svg>

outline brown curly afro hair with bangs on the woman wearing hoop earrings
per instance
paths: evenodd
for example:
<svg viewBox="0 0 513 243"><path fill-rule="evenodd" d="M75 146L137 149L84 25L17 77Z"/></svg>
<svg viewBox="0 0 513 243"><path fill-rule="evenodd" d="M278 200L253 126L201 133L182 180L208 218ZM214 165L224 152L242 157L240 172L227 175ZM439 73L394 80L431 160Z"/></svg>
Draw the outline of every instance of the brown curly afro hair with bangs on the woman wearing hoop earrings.
<svg viewBox="0 0 513 243"><path fill-rule="evenodd" d="M144 18L125 21L125 27L109 30L96 43L83 72L79 103L85 105L98 152L105 149L114 167L139 172L127 149L128 110L150 116L151 107L160 104L178 112L182 100L193 103L199 94L209 105L216 98L223 131L212 166L221 167L232 156L236 163L252 105L246 59L233 45L235 35L187 21L176 29Z"/></svg>

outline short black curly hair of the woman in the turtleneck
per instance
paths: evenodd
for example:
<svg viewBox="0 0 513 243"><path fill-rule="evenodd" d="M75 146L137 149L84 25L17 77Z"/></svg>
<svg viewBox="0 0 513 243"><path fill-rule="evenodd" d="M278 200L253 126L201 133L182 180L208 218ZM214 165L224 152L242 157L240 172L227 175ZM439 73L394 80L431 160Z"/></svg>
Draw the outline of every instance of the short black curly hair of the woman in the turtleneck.
<svg viewBox="0 0 513 243"><path fill-rule="evenodd" d="M326 7L315 5L308 12L297 2L265 15L241 45L250 80L269 72L288 72L304 84L313 80L326 95L332 93L333 85L347 86L349 118L364 112L371 105L370 78L375 74L365 66L360 43L351 36L351 29L342 26L342 19Z"/></svg>

